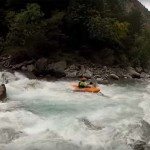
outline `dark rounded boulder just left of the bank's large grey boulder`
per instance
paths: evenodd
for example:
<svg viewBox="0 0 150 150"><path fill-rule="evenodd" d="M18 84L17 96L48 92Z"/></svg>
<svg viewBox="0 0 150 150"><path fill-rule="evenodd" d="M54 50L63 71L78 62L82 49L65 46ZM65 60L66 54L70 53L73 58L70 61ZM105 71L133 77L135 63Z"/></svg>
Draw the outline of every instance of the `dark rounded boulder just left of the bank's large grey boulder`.
<svg viewBox="0 0 150 150"><path fill-rule="evenodd" d="M35 66L36 66L36 69L38 72L45 71L47 69L47 66L48 66L48 59L46 59L44 57L38 59Z"/></svg>

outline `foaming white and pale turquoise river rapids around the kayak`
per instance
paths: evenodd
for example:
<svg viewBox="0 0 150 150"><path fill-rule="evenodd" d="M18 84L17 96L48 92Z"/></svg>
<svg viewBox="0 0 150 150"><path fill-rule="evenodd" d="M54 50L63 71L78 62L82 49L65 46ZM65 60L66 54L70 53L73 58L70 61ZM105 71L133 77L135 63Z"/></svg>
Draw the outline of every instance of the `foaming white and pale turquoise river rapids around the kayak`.
<svg viewBox="0 0 150 150"><path fill-rule="evenodd" d="M4 75L0 150L132 150L135 141L150 140L148 81L99 85L102 96L73 92L69 81Z"/></svg>

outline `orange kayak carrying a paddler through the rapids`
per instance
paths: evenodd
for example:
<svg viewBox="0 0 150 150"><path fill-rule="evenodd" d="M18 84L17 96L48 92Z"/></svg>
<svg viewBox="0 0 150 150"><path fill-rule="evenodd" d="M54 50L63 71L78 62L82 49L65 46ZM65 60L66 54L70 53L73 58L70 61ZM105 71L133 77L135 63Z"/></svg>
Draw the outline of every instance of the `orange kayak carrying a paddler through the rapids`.
<svg viewBox="0 0 150 150"><path fill-rule="evenodd" d="M98 93L100 92L100 88L98 87L87 87L87 88L79 88L77 84L72 85L73 91L75 92L91 92L91 93Z"/></svg>

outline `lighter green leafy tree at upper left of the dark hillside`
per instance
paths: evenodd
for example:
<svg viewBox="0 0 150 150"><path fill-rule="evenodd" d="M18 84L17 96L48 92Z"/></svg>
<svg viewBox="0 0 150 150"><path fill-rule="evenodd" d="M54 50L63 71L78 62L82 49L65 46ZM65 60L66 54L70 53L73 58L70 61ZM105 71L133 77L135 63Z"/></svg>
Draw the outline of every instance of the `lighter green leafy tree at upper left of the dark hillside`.
<svg viewBox="0 0 150 150"><path fill-rule="evenodd" d="M26 40L41 30L44 26L42 17L44 14L37 4L28 4L20 13L10 11L6 20L9 24L9 32L6 37L8 46L25 46Z"/></svg>

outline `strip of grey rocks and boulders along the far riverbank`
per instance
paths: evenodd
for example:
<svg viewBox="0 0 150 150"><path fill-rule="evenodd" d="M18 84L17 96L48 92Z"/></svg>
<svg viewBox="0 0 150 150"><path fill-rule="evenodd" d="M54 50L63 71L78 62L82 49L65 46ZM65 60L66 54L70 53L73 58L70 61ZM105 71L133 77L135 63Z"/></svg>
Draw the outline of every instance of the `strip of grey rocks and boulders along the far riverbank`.
<svg viewBox="0 0 150 150"><path fill-rule="evenodd" d="M83 63L68 64L61 60L53 62L47 58L28 60L21 63L12 63L11 56L0 57L1 69L10 71L21 71L29 78L45 79L76 79L80 76L87 78L95 77L99 84L110 84L121 79L148 79L150 71L141 67L101 66L88 61Z"/></svg>

